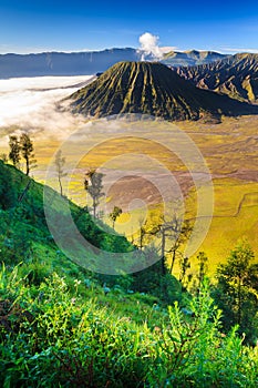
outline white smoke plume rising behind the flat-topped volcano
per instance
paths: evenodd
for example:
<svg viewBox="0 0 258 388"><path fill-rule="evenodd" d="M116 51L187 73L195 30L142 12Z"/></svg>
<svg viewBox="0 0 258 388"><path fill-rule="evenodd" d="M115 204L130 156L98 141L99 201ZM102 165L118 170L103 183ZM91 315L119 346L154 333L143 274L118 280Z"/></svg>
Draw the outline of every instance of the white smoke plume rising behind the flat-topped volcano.
<svg viewBox="0 0 258 388"><path fill-rule="evenodd" d="M153 60L161 60L163 58L163 50L158 47L158 37L153 35L149 32L143 33L138 41L141 44L140 52L142 52L142 61L145 61L146 58L149 58Z"/></svg>

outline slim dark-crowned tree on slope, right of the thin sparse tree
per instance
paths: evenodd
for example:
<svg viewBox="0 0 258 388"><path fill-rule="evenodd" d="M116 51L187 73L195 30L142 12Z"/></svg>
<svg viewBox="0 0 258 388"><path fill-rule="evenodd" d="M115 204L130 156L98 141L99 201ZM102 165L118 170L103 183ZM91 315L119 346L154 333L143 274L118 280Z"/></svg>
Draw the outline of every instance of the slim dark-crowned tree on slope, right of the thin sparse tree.
<svg viewBox="0 0 258 388"><path fill-rule="evenodd" d="M90 169L85 174L84 188L92 197L93 216L96 217L96 207L100 205L100 200L104 196L102 192L104 174L97 173L95 169Z"/></svg>

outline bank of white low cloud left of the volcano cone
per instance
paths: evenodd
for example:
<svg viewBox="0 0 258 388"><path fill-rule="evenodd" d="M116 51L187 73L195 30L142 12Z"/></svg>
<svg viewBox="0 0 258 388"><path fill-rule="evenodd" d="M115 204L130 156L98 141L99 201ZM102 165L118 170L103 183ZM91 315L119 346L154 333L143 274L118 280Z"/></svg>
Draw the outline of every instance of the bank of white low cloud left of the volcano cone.
<svg viewBox="0 0 258 388"><path fill-rule="evenodd" d="M84 119L62 112L56 102L84 85L91 76L39 76L0 80L0 133L6 136L13 127L44 135L65 136Z"/></svg>

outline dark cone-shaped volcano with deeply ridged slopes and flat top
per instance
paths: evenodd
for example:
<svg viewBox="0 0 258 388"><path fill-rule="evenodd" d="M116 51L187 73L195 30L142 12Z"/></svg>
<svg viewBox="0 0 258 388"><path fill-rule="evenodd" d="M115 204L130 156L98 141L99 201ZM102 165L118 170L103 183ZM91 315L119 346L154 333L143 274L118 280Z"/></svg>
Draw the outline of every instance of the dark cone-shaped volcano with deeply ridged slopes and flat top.
<svg viewBox="0 0 258 388"><path fill-rule="evenodd" d="M196 88L158 62L120 62L71 95L74 113L103 118L142 113L165 120L258 114L258 106Z"/></svg>

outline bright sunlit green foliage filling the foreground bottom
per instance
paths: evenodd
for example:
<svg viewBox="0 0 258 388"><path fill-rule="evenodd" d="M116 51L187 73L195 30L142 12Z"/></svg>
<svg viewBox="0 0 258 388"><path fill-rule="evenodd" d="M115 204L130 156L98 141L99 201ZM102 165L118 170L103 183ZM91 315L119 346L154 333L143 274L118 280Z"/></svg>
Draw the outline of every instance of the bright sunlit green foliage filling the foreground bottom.
<svg viewBox="0 0 258 388"><path fill-rule="evenodd" d="M144 310L145 323L135 324L133 316L112 312L112 295L103 306L81 295L83 287L78 279L69 286L55 273L28 285L19 268L8 273L2 267L1 386L257 386L257 350L242 346L236 329L221 336L220 312L207 284L190 300L190 317L176 303L154 327ZM144 306L141 298L138 305Z"/></svg>

